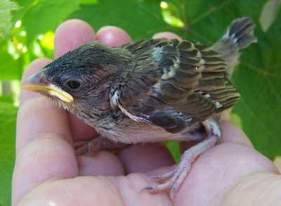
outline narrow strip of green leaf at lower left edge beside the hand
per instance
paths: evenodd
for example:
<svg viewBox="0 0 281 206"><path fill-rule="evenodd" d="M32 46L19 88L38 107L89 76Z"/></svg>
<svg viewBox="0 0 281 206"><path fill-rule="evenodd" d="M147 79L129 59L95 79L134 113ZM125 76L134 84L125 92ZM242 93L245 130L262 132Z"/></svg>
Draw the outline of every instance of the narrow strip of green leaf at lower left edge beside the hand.
<svg viewBox="0 0 281 206"><path fill-rule="evenodd" d="M11 205L11 179L15 159L15 118L17 108L0 102L0 204Z"/></svg>

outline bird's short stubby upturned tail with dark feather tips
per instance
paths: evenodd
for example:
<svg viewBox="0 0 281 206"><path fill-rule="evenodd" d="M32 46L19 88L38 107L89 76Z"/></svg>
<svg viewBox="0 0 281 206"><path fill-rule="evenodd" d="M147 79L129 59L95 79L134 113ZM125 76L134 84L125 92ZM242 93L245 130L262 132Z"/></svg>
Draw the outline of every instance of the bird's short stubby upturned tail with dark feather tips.
<svg viewBox="0 0 281 206"><path fill-rule="evenodd" d="M254 27L255 25L251 18L237 18L230 24L226 34L212 46L212 49L220 53L223 60L226 60L228 77L231 77L238 63L240 49L257 42L254 36Z"/></svg>

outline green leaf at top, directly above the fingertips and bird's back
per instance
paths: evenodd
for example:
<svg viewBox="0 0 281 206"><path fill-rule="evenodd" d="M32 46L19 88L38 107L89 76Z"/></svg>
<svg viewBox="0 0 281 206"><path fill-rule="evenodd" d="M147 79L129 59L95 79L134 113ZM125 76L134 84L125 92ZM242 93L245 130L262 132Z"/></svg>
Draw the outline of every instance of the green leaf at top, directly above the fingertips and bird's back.
<svg viewBox="0 0 281 206"><path fill-rule="evenodd" d="M100 0L81 6L70 18L89 22L95 30L105 25L122 27L133 39L151 38L155 32L169 30L161 16L160 1Z"/></svg>

